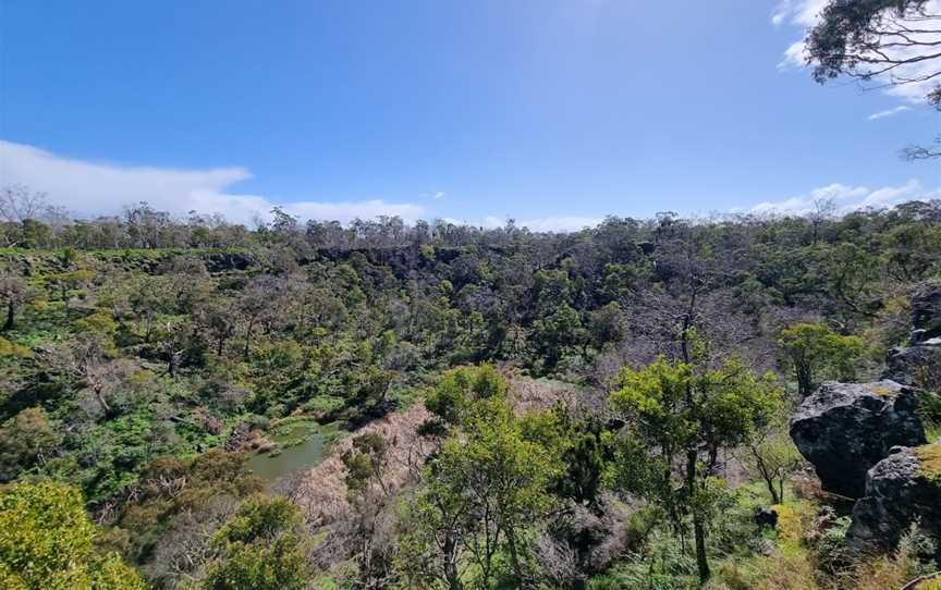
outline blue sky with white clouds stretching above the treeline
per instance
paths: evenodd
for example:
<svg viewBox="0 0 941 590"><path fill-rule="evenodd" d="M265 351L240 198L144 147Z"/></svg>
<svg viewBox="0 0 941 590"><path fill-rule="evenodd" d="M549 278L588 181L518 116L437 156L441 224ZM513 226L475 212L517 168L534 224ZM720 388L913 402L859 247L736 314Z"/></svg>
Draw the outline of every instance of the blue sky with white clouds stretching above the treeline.
<svg viewBox="0 0 941 590"><path fill-rule="evenodd" d="M780 66L815 3L0 0L0 184L547 229L937 194L936 112Z"/></svg>

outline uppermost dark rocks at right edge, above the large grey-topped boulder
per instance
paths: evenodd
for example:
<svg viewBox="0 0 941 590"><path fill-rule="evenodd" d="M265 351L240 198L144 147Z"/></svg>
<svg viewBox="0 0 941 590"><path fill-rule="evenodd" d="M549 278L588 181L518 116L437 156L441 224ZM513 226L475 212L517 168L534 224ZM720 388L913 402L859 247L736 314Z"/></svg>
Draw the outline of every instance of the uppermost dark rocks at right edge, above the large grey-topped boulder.
<svg viewBox="0 0 941 590"><path fill-rule="evenodd" d="M908 346L889 352L882 376L906 385L930 379L928 371L941 367L941 286L926 287L913 297L912 323Z"/></svg>

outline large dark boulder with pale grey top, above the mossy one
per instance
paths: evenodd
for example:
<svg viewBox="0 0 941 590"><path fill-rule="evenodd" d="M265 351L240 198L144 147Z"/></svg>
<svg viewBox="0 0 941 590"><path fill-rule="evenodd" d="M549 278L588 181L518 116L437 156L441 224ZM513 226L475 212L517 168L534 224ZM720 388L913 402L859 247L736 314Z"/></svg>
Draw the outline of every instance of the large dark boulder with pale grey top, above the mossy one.
<svg viewBox="0 0 941 590"><path fill-rule="evenodd" d="M926 442L916 404L916 392L894 381L824 383L801 404L791 438L824 490L861 497L867 471L890 448Z"/></svg>

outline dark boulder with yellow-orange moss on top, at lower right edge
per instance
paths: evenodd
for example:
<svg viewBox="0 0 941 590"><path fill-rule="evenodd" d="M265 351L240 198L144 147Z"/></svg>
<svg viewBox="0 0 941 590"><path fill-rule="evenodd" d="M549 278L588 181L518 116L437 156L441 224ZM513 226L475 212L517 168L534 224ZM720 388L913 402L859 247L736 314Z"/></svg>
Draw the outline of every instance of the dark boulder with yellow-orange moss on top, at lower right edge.
<svg viewBox="0 0 941 590"><path fill-rule="evenodd" d="M861 551L891 549L916 520L922 532L941 539L939 460L938 444L896 447L872 467L866 495L853 506L847 544Z"/></svg>

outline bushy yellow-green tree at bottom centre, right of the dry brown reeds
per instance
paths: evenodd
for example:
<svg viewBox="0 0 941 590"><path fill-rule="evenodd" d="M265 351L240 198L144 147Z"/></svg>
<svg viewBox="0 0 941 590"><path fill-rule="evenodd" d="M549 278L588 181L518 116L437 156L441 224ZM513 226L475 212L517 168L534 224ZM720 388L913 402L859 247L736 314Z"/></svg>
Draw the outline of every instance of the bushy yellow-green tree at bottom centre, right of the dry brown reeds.
<svg viewBox="0 0 941 590"><path fill-rule="evenodd" d="M415 586L535 583L527 529L555 502L565 439L551 415L514 416L505 390L491 367L456 369L431 398L452 431L411 506L402 566Z"/></svg>

